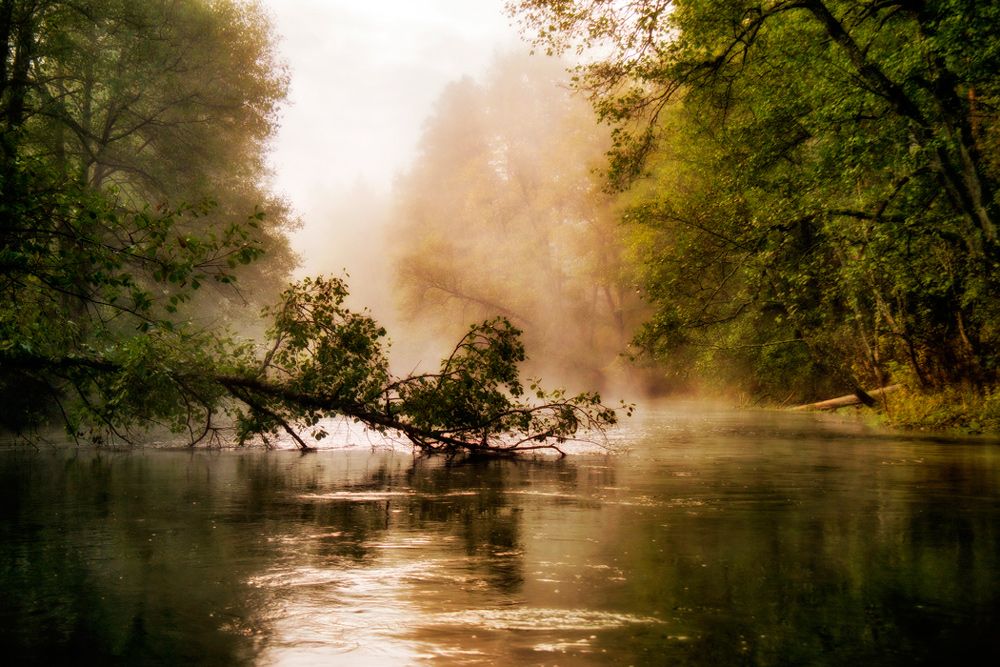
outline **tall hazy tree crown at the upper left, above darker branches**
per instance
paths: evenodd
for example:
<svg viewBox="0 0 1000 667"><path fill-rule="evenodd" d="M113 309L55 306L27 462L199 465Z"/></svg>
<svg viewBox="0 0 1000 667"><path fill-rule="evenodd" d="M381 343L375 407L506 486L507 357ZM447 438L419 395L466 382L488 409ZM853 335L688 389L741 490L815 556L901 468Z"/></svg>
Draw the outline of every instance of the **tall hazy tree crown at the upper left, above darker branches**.
<svg viewBox="0 0 1000 667"><path fill-rule="evenodd" d="M288 78L261 7L7 0L2 11L9 144L95 190L113 188L131 210L211 197L184 229L198 236L263 207L266 224L253 233L268 257L242 284L276 296L294 264L293 221L265 189L265 158Z"/></svg>

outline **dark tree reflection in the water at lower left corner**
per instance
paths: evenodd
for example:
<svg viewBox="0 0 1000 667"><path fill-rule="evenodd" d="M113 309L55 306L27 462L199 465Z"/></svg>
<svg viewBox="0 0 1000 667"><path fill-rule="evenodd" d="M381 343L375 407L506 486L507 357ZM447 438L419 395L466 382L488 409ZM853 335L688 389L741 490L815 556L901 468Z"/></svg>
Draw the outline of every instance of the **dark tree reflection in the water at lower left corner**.
<svg viewBox="0 0 1000 667"><path fill-rule="evenodd" d="M0 645L12 664L244 661L246 639L223 631L251 603L241 538L188 461L3 456Z"/></svg>

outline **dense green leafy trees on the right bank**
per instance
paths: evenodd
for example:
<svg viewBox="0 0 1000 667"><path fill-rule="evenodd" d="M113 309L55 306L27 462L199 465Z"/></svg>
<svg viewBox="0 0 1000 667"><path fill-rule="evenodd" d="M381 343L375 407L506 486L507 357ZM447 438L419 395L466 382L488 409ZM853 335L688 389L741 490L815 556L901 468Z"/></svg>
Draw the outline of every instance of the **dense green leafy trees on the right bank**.
<svg viewBox="0 0 1000 667"><path fill-rule="evenodd" d="M578 75L615 182L656 179L630 214L650 349L806 369L800 388L996 381L1000 5L508 6L548 48L610 54Z"/></svg>

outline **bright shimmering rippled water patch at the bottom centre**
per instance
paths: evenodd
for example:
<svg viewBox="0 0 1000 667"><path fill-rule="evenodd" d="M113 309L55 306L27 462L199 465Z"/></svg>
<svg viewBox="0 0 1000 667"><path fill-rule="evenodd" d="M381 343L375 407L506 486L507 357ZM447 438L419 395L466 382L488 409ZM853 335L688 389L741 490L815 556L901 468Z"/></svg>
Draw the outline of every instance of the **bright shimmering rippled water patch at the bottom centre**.
<svg viewBox="0 0 1000 667"><path fill-rule="evenodd" d="M627 613L501 601L458 558L383 562L371 568L349 562L327 565L276 569L250 580L271 593L256 624L266 628L260 664L331 659L366 667L425 660L492 664L512 650L587 653L591 640L579 633L593 637L600 631L664 623ZM479 596L482 606L469 597L473 591L485 596Z"/></svg>

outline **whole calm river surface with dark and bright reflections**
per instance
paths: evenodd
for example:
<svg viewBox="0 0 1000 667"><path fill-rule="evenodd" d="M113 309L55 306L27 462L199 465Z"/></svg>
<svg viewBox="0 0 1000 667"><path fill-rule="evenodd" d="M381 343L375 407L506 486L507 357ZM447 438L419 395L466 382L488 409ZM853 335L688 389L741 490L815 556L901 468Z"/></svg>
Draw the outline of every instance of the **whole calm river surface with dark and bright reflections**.
<svg viewBox="0 0 1000 667"><path fill-rule="evenodd" d="M1000 444L647 411L626 456L0 452L0 660L962 665Z"/></svg>

